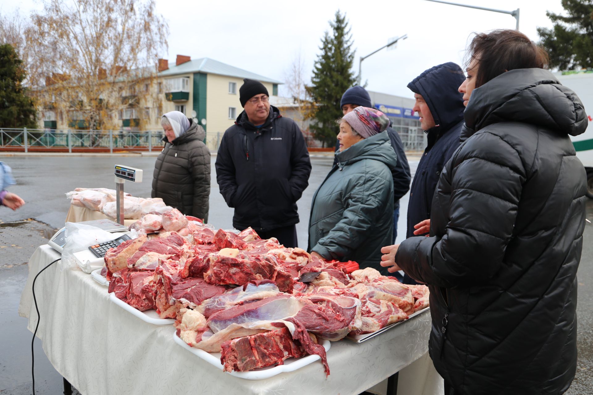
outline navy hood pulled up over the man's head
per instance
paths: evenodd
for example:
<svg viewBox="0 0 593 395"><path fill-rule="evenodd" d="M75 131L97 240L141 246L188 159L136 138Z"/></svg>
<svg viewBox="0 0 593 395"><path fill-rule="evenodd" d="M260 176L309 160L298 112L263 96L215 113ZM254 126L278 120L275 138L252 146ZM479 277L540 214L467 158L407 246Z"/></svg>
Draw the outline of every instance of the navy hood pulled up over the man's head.
<svg viewBox="0 0 593 395"><path fill-rule="evenodd" d="M457 89L465 76L453 62L434 66L417 76L407 87L422 95L435 120L436 130L448 130L463 120L463 94ZM431 131L433 130L431 129Z"/></svg>

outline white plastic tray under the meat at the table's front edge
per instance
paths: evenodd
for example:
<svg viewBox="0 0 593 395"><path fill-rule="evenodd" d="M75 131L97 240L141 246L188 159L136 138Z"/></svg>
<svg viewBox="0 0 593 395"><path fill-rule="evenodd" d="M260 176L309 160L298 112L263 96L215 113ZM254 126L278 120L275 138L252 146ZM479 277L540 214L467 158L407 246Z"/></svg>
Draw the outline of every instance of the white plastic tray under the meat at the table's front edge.
<svg viewBox="0 0 593 395"><path fill-rule="evenodd" d="M187 345L186 342L181 340L177 333L173 333L173 339L175 342L186 349L187 351L191 352L192 354L197 355L197 357L202 358L204 361L208 362L209 364L215 366L216 368L223 370L224 365L221 364L221 353L219 352L206 352L202 349L190 347ZM326 349L326 352L331 347L331 342L327 340L321 339L321 345L323 348ZM254 370L250 370L248 372L227 372L230 375L240 378L246 378L247 380L262 380L263 378L270 378L275 376L276 374L280 374L282 372L292 372L297 370L298 368L302 368L305 365L311 364L311 362L315 362L318 359L321 359L319 355L305 355L305 357L301 358L288 358L285 359L283 365L278 366L270 366L266 368L258 368ZM323 370L323 365L320 365L320 369Z"/></svg>

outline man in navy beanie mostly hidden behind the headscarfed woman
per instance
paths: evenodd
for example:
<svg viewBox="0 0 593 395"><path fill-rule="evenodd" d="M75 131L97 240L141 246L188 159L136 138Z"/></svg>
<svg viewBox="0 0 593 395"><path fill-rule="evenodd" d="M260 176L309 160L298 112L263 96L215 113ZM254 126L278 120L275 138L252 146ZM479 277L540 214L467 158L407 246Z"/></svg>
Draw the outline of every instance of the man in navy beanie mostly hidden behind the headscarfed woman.
<svg viewBox="0 0 593 395"><path fill-rule="evenodd" d="M346 115L356 107L369 107L372 108L371 97L365 88L362 86L352 86L352 88L346 89L346 92L342 95L340 101L340 107L342 113ZM396 152L397 164L396 167L391 171L393 176L393 242L396 241L397 237L397 220L400 217L400 199L410 190L410 165L408 165L406 152L404 152L403 143L401 142L400 135L390 125L387 127L387 134L391 140L391 146ZM339 142L336 144L336 152L339 149ZM336 165L337 159L334 159L334 165Z"/></svg>

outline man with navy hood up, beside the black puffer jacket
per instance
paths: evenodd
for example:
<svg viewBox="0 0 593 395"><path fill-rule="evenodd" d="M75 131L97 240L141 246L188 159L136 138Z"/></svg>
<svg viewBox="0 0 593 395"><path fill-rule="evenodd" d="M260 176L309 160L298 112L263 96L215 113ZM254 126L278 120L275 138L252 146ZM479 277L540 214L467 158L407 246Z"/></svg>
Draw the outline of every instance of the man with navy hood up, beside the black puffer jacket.
<svg viewBox="0 0 593 395"><path fill-rule="evenodd" d="M426 70L407 85L414 92L413 110L420 115L420 127L427 134L428 146L410 188L406 238L428 234L428 228L422 227L420 232L424 229L426 232L415 235L414 226L431 218L436 183L443 166L459 147L465 107L463 94L457 88L464 79L460 66L448 62ZM404 275L403 282L417 284L408 275Z"/></svg>

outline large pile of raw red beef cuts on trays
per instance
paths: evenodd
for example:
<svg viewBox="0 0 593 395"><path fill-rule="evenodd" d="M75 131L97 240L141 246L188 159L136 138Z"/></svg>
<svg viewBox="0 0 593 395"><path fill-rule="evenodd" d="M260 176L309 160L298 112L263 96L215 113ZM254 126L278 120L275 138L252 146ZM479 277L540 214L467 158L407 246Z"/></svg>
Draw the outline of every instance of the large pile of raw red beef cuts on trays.
<svg viewBox="0 0 593 395"><path fill-rule="evenodd" d="M317 354L329 374L320 339L375 332L428 307L425 285L404 285L355 262L324 262L251 228L215 232L177 210L162 214L161 226L156 237L141 233L107 252L109 292L176 319L177 335L221 352L225 371ZM313 280L299 281L307 273Z"/></svg>

